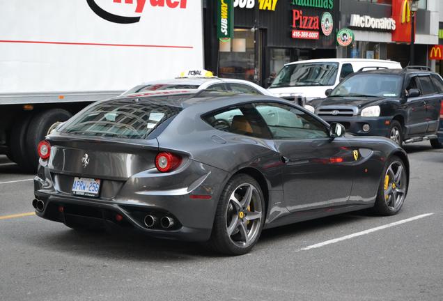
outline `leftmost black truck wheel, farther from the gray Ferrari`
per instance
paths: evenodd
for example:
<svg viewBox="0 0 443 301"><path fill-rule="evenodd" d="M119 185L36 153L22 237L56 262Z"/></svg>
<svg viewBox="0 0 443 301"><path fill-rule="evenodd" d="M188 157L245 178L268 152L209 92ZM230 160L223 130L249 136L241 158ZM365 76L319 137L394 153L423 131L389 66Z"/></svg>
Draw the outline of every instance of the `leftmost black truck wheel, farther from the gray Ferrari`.
<svg viewBox="0 0 443 301"><path fill-rule="evenodd" d="M10 131L10 153L8 154L8 157L11 161L17 163L20 169L23 169L24 171L31 171L28 151L26 148L26 131L28 130L31 117L31 114L18 116L17 121L13 123L13 128Z"/></svg>

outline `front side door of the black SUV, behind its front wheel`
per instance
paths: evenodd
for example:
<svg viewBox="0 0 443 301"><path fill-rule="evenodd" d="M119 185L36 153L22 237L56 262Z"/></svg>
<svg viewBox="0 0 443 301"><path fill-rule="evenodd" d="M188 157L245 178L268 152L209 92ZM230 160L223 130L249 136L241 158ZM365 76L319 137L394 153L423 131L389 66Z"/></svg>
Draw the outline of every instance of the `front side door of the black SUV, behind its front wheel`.
<svg viewBox="0 0 443 301"><path fill-rule="evenodd" d="M419 89L420 95L413 98L407 98L407 101L405 103L407 115L405 127L407 128L408 136L425 133L428 129L428 123L426 122L425 102L421 95L422 92L418 82L418 76L410 78L409 83L406 85L405 88L406 93L413 88Z"/></svg>

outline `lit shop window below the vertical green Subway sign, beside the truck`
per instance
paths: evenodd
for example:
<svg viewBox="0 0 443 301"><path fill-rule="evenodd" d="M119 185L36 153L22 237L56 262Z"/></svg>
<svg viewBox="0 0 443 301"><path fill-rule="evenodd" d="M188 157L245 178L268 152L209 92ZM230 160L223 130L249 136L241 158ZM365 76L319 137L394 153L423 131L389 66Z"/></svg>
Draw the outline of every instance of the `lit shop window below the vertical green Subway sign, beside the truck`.
<svg viewBox="0 0 443 301"><path fill-rule="evenodd" d="M234 29L234 38L228 42L219 42L219 77L254 82L255 61L254 32L249 29ZM257 68L261 70L260 66Z"/></svg>

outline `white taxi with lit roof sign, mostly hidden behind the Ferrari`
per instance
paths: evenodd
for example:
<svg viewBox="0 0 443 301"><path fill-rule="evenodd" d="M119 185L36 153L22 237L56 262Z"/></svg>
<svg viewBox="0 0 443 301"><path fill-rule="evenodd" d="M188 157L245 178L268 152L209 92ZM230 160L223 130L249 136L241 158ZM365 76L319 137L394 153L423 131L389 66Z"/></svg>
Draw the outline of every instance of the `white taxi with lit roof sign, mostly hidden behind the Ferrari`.
<svg viewBox="0 0 443 301"><path fill-rule="evenodd" d="M233 91L249 94L272 95L258 84L243 79L227 79L215 77L207 70L187 70L175 79L160 79L139 84L125 91L122 95L141 93L144 91L162 91L176 89L199 89Z"/></svg>

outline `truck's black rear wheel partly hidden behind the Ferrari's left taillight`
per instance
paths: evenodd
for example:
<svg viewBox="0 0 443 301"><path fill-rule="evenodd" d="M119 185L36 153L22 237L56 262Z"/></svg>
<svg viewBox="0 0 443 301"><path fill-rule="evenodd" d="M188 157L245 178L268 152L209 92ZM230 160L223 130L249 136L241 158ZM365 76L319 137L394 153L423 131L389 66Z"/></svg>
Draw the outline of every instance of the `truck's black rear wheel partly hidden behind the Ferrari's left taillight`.
<svg viewBox="0 0 443 301"><path fill-rule="evenodd" d="M54 123L67 121L71 116L72 114L64 109L41 111L36 116L33 116L29 123L26 147L29 153L29 161L34 170L36 170L38 166L38 143L45 139L45 136L49 134L48 131Z"/></svg>

